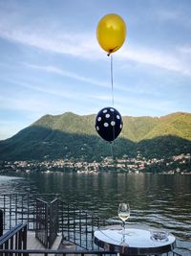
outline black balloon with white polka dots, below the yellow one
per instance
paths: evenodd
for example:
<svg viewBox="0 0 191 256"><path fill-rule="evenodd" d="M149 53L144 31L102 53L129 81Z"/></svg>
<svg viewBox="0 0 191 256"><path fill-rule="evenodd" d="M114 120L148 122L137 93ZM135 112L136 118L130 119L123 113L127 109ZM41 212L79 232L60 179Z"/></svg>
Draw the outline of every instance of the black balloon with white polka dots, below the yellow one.
<svg viewBox="0 0 191 256"><path fill-rule="evenodd" d="M106 141L114 141L122 126L122 117L114 107L104 107L96 115L96 131Z"/></svg>

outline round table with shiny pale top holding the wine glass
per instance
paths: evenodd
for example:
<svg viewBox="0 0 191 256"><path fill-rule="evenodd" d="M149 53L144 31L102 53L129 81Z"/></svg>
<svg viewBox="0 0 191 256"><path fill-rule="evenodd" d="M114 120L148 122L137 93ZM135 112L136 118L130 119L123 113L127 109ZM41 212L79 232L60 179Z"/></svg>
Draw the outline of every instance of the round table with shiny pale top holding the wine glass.
<svg viewBox="0 0 191 256"><path fill-rule="evenodd" d="M176 245L175 236L161 229L128 226L125 233L122 234L119 226L100 228L95 231L95 244L126 255L160 254L172 250ZM160 237L160 234L165 234L165 237Z"/></svg>

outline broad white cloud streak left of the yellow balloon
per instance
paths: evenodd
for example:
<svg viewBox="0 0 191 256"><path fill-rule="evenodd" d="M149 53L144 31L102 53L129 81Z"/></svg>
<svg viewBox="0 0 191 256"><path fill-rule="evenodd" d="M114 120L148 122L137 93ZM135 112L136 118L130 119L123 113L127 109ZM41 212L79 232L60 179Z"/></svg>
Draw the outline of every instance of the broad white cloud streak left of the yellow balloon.
<svg viewBox="0 0 191 256"><path fill-rule="evenodd" d="M0 20L1 21L1 20ZM6 26L7 25L7 26ZM81 58L101 58L95 35L41 30L16 24L0 24L0 36L44 51Z"/></svg>

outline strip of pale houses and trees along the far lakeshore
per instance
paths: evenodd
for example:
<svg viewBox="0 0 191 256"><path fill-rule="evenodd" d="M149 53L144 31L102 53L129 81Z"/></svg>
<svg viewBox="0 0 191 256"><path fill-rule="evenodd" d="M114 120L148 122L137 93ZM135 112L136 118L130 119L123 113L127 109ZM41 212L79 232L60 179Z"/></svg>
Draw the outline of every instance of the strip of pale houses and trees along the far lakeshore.
<svg viewBox="0 0 191 256"><path fill-rule="evenodd" d="M139 152L137 157L130 158L123 155L122 158L113 159L105 157L100 162L87 162L76 159L44 159L42 161L1 161L0 173L52 173L52 172L74 172L74 173L99 173L115 172L127 174L186 174L191 175L191 154L181 153L168 158L146 159Z"/></svg>

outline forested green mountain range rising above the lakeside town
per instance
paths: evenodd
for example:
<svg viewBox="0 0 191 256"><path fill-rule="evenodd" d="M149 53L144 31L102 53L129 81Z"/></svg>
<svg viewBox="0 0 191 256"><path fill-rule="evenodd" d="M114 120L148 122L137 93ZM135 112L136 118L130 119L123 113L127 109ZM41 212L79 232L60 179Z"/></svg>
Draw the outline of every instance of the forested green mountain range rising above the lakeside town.
<svg viewBox="0 0 191 256"><path fill-rule="evenodd" d="M111 144L95 129L95 115L71 112L45 115L10 139L0 141L0 160L82 159L111 156ZM191 152L191 114L163 117L123 117L123 129L112 146L114 155L166 157Z"/></svg>

